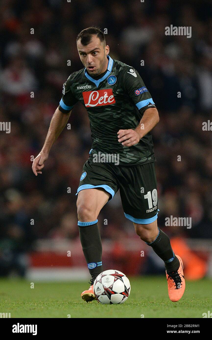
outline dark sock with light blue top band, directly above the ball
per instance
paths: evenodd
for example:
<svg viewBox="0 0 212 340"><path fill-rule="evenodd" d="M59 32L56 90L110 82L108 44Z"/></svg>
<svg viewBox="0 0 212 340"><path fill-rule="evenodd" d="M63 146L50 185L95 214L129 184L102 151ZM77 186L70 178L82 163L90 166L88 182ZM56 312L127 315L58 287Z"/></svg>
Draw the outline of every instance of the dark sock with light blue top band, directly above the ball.
<svg viewBox="0 0 212 340"><path fill-rule="evenodd" d="M93 222L78 221L82 250L93 280L103 272L102 242L97 221L98 220Z"/></svg>

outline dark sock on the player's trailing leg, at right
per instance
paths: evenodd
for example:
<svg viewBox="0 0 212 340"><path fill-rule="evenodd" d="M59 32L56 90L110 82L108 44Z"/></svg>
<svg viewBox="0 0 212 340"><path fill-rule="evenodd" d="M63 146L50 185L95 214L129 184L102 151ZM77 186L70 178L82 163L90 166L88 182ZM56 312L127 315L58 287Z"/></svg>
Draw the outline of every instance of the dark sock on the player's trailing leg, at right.
<svg viewBox="0 0 212 340"><path fill-rule="evenodd" d="M156 239L147 243L153 249L153 251L164 261L167 273L176 272L180 266L180 261L175 256L169 237L158 228L159 233Z"/></svg>

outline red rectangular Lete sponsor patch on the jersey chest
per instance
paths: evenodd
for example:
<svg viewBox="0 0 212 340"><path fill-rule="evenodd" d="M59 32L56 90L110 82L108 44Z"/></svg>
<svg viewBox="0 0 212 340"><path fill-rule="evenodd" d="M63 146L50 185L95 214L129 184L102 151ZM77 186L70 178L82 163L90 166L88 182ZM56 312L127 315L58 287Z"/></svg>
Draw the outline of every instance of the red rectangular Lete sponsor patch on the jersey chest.
<svg viewBox="0 0 212 340"><path fill-rule="evenodd" d="M114 104L115 98L112 88L105 90L82 92L86 107L103 106Z"/></svg>

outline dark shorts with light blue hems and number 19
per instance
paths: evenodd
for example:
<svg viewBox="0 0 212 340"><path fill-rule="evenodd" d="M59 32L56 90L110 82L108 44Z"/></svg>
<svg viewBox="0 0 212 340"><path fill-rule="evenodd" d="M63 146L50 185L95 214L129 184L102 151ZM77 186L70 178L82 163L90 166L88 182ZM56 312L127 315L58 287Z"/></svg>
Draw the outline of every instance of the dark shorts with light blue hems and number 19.
<svg viewBox="0 0 212 340"><path fill-rule="evenodd" d="M138 224L148 224L158 218L157 181L154 162L134 167L111 163L94 163L88 158L83 166L76 195L83 189L103 188L111 194L120 190L126 218Z"/></svg>

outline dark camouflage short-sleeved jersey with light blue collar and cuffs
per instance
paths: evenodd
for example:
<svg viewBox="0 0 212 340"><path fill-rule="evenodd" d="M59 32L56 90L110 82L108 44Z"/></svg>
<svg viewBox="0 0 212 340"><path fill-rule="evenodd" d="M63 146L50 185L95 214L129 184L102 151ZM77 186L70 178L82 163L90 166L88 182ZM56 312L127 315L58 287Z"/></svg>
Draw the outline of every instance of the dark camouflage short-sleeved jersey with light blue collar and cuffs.
<svg viewBox="0 0 212 340"><path fill-rule="evenodd" d="M98 79L85 68L73 72L63 85L59 109L68 113L80 101L88 112L92 133L92 153L119 155L119 165L153 162L154 152L150 133L136 145L126 147L118 142L120 129L135 129L144 111L156 107L138 72L131 66L113 60Z"/></svg>

